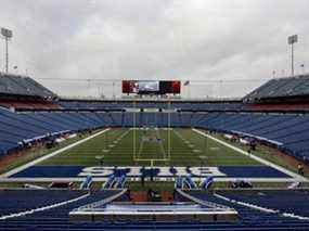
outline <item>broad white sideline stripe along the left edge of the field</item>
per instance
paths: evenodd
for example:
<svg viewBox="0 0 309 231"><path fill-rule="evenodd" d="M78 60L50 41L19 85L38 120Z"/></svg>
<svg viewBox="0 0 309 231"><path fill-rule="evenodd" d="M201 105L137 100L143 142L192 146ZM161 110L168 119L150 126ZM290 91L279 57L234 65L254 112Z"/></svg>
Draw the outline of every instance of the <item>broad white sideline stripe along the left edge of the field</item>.
<svg viewBox="0 0 309 231"><path fill-rule="evenodd" d="M0 175L0 179L1 179L1 178L11 177L12 175L15 175L15 174L17 174L17 172L20 172L20 171L22 171L22 170L25 170L26 168L29 168L29 167L31 167L31 166L34 166L34 165L37 165L37 164L39 164L40 162L43 162L43 161L46 161L46 159L48 159L48 158L51 158L51 157L53 157L53 156L55 156L55 155L57 155L57 154L60 154L60 153L63 153L63 152L65 152L65 151L67 151L67 150L69 150L69 149L72 149L72 147L74 147L74 146L77 146L77 145L79 145L79 144L81 144L81 143L85 143L85 142L87 142L88 140L91 140L92 138L95 138L95 137L98 137L98 136L100 136L100 134L102 134L102 133L104 133L104 132L106 132L106 131L108 131L108 130L110 130L110 128L106 128L106 129L104 129L104 130L102 130L102 131L99 131L99 132L95 133L95 134L92 134L92 136L90 136L90 137L88 137L88 138L85 138L85 139L82 139L82 140L79 140L79 141L77 141L77 142L75 142L75 143L72 143L72 144L67 145L67 146L64 146L64 147L62 147L62 149L60 149L60 150L57 150L57 151L55 151L55 152L52 152L52 153L50 153L50 154L48 154L48 155L44 155L44 156L42 156L42 157L40 157L40 158L37 158L37 159L33 161L33 162L29 162L29 163L27 163L27 164L25 164L25 165L22 165L22 166L17 167L17 168L14 168L14 169L12 169L12 170L10 170L10 171L3 174L3 175Z"/></svg>

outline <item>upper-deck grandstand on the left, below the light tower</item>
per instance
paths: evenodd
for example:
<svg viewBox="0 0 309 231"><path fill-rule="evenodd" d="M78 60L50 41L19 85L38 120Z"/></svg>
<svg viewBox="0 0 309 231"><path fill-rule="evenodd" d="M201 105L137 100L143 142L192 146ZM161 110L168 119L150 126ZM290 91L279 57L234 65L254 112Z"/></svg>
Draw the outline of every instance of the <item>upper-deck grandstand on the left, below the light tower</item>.
<svg viewBox="0 0 309 231"><path fill-rule="evenodd" d="M30 77L0 73L0 94L55 98L52 91Z"/></svg>

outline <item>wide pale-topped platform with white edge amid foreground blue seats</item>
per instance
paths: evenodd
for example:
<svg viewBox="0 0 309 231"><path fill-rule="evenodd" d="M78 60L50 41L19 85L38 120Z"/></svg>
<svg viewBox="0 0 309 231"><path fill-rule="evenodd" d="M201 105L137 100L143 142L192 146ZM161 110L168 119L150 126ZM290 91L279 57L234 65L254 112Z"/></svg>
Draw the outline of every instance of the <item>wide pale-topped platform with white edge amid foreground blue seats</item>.
<svg viewBox="0 0 309 231"><path fill-rule="evenodd" d="M116 202L98 207L83 207L69 213L72 221L102 220L196 220L196 221L233 221L237 211L229 207L210 207L195 203L124 203Z"/></svg>

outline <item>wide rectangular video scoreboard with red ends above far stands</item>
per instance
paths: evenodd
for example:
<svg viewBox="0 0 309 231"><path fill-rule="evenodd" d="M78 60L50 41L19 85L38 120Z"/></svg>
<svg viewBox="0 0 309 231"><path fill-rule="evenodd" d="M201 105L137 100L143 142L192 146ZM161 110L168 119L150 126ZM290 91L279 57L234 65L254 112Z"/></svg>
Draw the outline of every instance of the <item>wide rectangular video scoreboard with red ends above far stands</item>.
<svg viewBox="0 0 309 231"><path fill-rule="evenodd" d="M181 82L157 80L123 80L123 93L137 94L179 94Z"/></svg>

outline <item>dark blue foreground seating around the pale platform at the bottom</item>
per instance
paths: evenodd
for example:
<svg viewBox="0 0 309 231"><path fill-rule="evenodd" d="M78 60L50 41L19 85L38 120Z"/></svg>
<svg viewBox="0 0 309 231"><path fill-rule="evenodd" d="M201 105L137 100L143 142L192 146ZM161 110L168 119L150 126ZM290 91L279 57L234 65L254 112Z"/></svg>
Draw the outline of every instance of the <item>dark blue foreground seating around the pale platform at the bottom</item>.
<svg viewBox="0 0 309 231"><path fill-rule="evenodd" d="M239 211L240 219L233 222L198 222L191 220L163 221L69 221L68 213L74 208L107 198L119 191L103 190L91 192L76 202L64 204L59 207L38 210L26 216L1 219L3 215L24 211L25 209L38 208L46 205L64 202L87 195L88 191L76 190L1 190L0 200L0 230L308 230L308 191L307 190L220 190L210 191L185 191L185 193L207 203L216 203L232 207ZM27 195L31 200L27 200ZM222 197L220 197L220 196ZM283 196L281 196L283 195ZM227 198L229 198L227 201ZM5 200L5 202L3 202ZM242 202L242 204L240 204ZM294 206L291 207L291 203ZM307 203L307 204L306 204ZM262 210L272 208L275 211ZM288 217L285 213L301 215Z"/></svg>

